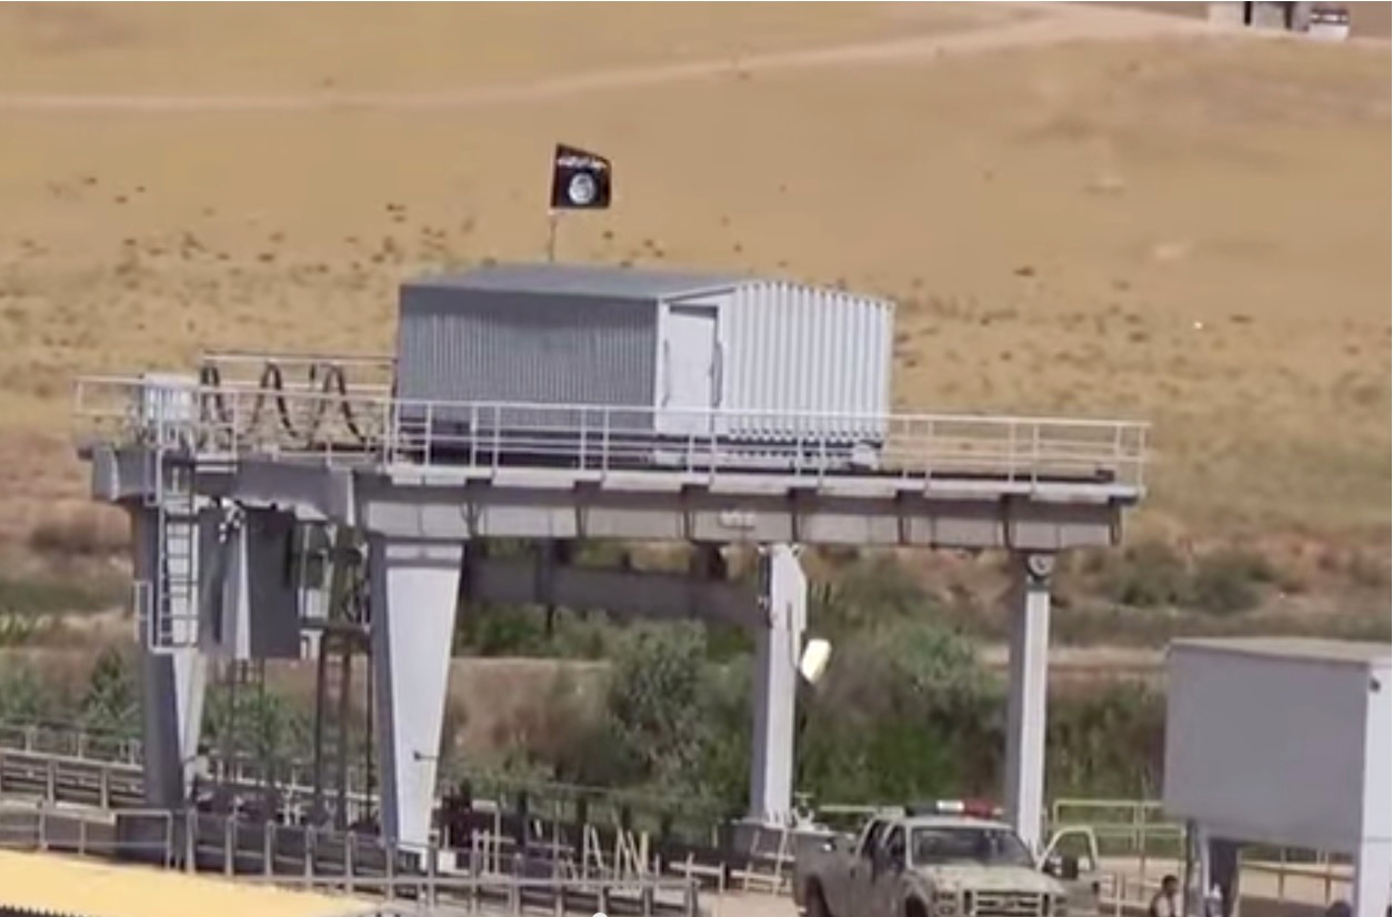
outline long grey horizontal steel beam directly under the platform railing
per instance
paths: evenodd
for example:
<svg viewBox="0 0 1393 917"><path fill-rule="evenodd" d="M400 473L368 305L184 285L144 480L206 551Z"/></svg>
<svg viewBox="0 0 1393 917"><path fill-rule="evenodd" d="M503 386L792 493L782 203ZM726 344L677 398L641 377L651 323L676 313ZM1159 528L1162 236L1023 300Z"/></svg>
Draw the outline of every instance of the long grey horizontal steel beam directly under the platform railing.
<svg viewBox="0 0 1393 917"><path fill-rule="evenodd" d="M92 493L153 487L156 451L96 447ZM201 466L199 493L280 505L389 537L589 539L1063 551L1109 547L1135 491L1113 484L983 479L797 479L779 475L404 466L336 468L240 456Z"/></svg>

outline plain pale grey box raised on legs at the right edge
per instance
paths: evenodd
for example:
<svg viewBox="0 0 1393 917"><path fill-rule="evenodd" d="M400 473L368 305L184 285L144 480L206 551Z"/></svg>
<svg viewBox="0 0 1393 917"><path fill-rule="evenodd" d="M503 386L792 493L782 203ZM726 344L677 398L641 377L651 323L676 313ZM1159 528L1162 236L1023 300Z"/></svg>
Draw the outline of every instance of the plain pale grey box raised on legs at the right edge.
<svg viewBox="0 0 1393 917"><path fill-rule="evenodd" d="M1173 641L1166 813L1236 842L1380 846L1386 867L1390 694L1386 643Z"/></svg>

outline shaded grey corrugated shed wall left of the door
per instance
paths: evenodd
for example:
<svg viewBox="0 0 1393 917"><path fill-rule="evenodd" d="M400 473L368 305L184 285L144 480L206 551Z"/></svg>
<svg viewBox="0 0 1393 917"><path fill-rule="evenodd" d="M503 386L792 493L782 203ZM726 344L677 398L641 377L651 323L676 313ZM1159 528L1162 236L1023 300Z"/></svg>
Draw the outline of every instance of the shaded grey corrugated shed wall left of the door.
<svg viewBox="0 0 1393 917"><path fill-rule="evenodd" d="M397 395L652 405L656 352L656 303L408 284Z"/></svg>

